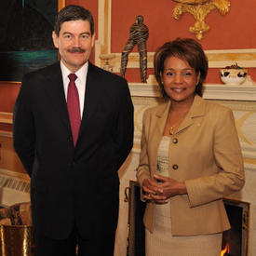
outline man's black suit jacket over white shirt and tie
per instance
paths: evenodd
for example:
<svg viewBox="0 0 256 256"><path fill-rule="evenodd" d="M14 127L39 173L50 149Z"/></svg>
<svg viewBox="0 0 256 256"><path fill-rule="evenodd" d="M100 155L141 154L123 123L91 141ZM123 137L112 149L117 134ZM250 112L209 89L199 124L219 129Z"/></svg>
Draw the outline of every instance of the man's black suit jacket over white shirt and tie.
<svg viewBox="0 0 256 256"><path fill-rule="evenodd" d="M89 63L76 146L60 63L26 74L14 109L14 147L31 176L36 231L65 238L115 231L117 170L133 141L133 105L122 77Z"/></svg>

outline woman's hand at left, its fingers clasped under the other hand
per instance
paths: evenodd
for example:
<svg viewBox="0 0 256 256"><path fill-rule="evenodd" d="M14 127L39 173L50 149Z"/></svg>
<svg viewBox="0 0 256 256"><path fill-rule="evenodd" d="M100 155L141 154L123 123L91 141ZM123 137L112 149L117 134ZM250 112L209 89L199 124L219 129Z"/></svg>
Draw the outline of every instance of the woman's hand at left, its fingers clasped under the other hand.
<svg viewBox="0 0 256 256"><path fill-rule="evenodd" d="M142 182L142 189L144 191L144 198L146 200L154 201L157 204L168 203L168 198L162 195L163 189L159 186L159 183L152 179L145 179Z"/></svg>

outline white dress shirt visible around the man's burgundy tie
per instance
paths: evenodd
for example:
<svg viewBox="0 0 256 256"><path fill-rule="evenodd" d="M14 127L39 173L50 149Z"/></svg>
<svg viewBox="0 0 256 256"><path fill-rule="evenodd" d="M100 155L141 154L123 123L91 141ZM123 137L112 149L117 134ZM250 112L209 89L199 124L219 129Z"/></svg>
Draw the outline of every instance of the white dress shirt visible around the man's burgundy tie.
<svg viewBox="0 0 256 256"><path fill-rule="evenodd" d="M63 79L65 98L67 101L68 85L70 82L68 75L73 72L71 72L63 64L62 61L61 61L61 73L62 73L62 79ZM82 119L83 111L84 111L85 93L86 93L86 82L87 82L87 76L88 76L88 61L74 74L76 74L76 76L77 76L74 83L75 83L75 86L76 86L76 88L78 90L78 94L79 94L80 114L81 114L81 119Z"/></svg>

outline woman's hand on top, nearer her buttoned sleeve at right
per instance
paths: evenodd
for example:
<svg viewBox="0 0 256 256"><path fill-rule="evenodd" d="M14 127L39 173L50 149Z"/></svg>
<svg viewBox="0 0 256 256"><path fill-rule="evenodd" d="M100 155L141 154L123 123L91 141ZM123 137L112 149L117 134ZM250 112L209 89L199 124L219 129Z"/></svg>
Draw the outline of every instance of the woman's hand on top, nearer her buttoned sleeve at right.
<svg viewBox="0 0 256 256"><path fill-rule="evenodd" d="M174 195L187 194L184 182L177 182L176 180L157 174L154 175L154 178L158 184L158 191L162 191L158 195L164 196L168 199Z"/></svg>

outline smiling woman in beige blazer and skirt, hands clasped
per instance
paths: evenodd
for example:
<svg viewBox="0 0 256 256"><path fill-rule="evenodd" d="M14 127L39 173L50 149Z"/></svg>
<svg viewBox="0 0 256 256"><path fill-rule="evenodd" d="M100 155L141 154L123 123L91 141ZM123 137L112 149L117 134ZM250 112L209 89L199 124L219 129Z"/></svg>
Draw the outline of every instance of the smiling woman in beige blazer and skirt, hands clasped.
<svg viewBox="0 0 256 256"><path fill-rule="evenodd" d="M146 255L219 256L230 228L222 198L244 185L234 116L201 98L208 60L194 39L164 44L154 63L166 101L143 115Z"/></svg>

